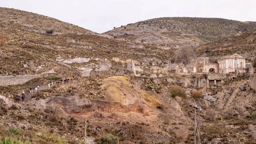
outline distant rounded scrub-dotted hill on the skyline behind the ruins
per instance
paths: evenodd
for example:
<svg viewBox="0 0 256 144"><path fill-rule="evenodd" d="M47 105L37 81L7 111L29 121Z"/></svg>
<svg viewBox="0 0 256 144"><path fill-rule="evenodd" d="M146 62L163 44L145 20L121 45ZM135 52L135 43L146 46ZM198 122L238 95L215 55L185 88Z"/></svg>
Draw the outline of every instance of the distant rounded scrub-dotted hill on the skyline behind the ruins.
<svg viewBox="0 0 256 144"><path fill-rule="evenodd" d="M161 17L131 23L103 34L173 48L176 45L211 42L255 28L256 22L222 18Z"/></svg>

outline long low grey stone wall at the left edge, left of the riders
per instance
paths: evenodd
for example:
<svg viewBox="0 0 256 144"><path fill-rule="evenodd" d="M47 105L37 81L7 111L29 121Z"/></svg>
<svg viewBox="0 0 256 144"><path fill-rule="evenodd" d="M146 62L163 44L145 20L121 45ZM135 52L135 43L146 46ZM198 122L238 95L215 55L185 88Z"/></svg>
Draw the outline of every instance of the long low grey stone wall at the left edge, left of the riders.
<svg viewBox="0 0 256 144"><path fill-rule="evenodd" d="M0 76L0 86L25 84L27 81L38 77L40 75Z"/></svg>

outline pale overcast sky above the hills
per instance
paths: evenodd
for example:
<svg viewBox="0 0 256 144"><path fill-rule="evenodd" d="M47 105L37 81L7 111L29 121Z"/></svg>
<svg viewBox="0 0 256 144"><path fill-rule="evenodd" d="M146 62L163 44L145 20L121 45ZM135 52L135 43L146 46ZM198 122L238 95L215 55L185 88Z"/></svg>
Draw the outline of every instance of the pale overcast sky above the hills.
<svg viewBox="0 0 256 144"><path fill-rule="evenodd" d="M93 32L157 17L256 21L256 0L1 0L0 7L54 17Z"/></svg>

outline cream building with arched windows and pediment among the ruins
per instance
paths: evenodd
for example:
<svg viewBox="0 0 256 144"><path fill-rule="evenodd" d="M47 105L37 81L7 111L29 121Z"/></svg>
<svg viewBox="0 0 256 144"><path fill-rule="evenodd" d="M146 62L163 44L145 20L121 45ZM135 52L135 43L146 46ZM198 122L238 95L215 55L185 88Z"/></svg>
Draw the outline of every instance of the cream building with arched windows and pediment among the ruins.
<svg viewBox="0 0 256 144"><path fill-rule="evenodd" d="M237 72L245 68L245 58L238 54L226 55L218 63L224 63L224 66L218 68L220 73Z"/></svg>

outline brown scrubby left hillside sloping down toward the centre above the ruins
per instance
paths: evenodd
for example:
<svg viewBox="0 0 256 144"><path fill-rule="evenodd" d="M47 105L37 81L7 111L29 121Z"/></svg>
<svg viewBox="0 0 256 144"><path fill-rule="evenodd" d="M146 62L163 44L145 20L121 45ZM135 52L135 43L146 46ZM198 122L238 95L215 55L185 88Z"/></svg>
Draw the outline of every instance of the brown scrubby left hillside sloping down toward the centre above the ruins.
<svg viewBox="0 0 256 144"><path fill-rule="evenodd" d="M150 46L99 35L40 14L7 8L0 8L0 14L0 31L6 38L6 43L0 45L0 75L41 74L52 68L58 72L67 71L56 64L58 61L83 67L84 64L99 63L94 59L136 60L138 55L159 57L152 56L156 52L163 54L159 58L172 55L172 52L151 50ZM137 48L140 46L143 48ZM79 58L84 61L70 62Z"/></svg>

